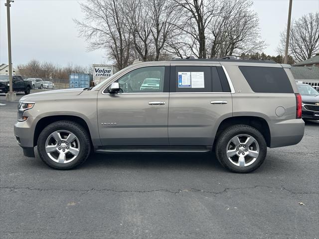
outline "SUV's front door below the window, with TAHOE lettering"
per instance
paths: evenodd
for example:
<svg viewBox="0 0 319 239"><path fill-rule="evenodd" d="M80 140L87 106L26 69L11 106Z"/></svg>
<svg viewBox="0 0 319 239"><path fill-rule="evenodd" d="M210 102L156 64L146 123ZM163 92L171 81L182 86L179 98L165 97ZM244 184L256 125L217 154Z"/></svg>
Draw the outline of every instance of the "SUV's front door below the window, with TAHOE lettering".
<svg viewBox="0 0 319 239"><path fill-rule="evenodd" d="M97 110L102 145L168 145L168 93L99 94Z"/></svg>

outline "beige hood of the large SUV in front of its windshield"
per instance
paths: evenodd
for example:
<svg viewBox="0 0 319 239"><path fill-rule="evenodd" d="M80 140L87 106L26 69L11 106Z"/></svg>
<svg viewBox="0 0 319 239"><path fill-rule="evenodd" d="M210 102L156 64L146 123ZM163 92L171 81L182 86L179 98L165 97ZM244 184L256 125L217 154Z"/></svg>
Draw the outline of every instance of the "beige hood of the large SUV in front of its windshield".
<svg viewBox="0 0 319 239"><path fill-rule="evenodd" d="M54 91L42 91L23 96L20 101L56 100L70 99L72 96L80 95L85 88L73 88Z"/></svg>

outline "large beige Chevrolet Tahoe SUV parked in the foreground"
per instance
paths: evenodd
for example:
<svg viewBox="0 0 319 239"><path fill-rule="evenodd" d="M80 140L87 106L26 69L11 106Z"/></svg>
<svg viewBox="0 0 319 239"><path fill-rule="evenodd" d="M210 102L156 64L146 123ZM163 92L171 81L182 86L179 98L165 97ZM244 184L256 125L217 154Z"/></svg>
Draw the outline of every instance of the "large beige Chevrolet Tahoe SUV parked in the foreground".
<svg viewBox="0 0 319 239"><path fill-rule="evenodd" d="M156 89L145 79L160 79ZM247 173L267 147L300 142L302 101L289 65L181 59L133 64L93 88L40 92L18 103L14 134L25 156L55 169L90 152L209 152ZM280 159L278 159L280 160Z"/></svg>

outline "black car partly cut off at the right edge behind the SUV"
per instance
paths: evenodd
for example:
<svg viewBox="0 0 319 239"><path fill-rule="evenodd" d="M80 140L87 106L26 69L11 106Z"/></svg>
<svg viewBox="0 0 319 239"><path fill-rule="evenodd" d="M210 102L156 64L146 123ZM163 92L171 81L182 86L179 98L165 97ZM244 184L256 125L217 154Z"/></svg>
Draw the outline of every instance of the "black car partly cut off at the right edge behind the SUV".
<svg viewBox="0 0 319 239"><path fill-rule="evenodd" d="M319 119L319 92L308 84L297 84L303 102L303 119Z"/></svg>

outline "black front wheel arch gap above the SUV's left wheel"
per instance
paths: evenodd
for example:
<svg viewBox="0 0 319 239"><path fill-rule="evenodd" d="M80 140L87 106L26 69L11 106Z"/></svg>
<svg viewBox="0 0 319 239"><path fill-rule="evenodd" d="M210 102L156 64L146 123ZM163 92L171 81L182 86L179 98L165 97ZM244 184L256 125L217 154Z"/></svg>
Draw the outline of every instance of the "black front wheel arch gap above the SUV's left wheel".
<svg viewBox="0 0 319 239"><path fill-rule="evenodd" d="M76 122L76 123L80 124L81 126L83 126L87 130L87 132L89 133L90 141L92 144L92 137L91 137L91 133L90 133L90 128L84 119L82 119L79 116L59 115L59 116L46 116L46 117L43 117L37 121L37 123L35 125L35 129L34 129L33 146L37 145L38 137L39 137L41 131L45 128L45 126L47 126L50 123L60 121L60 120L69 120L69 121Z"/></svg>

